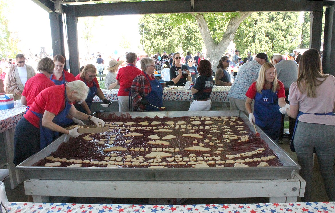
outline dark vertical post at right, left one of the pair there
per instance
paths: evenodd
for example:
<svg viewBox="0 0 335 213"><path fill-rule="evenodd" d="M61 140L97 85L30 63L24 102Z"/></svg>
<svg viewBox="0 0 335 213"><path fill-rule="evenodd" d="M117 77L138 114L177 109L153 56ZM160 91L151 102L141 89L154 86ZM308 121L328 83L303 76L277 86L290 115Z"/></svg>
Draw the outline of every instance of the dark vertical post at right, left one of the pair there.
<svg viewBox="0 0 335 213"><path fill-rule="evenodd" d="M314 1L311 11L310 48L320 51L322 34L323 3Z"/></svg>

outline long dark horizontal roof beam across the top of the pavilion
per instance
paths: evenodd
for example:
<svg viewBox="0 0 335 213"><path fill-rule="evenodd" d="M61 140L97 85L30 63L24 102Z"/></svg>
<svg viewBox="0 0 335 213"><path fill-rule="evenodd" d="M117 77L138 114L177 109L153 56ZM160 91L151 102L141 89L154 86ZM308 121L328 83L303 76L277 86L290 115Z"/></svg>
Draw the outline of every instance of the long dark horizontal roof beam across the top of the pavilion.
<svg viewBox="0 0 335 213"><path fill-rule="evenodd" d="M190 0L114 2L104 4L71 5L76 17L192 13L192 12L272 12L272 11L311 11L314 1L307 0L195 0L192 9ZM318 1L323 4L323 1Z"/></svg>

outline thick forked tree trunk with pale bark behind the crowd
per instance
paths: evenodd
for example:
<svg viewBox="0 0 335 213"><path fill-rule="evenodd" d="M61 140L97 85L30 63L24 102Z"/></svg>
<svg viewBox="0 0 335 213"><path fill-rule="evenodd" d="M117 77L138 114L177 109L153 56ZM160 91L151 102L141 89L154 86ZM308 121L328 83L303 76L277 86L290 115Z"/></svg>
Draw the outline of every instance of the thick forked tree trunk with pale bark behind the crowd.
<svg viewBox="0 0 335 213"><path fill-rule="evenodd" d="M216 72L216 66L226 51L230 41L233 40L235 32L239 28L240 23L252 13L253 12L240 12L239 15L232 17L227 25L227 29L224 32L221 41L218 44L214 42L204 16L199 13L193 14L197 20L201 36L206 46L206 58L212 64L212 69L214 72Z"/></svg>

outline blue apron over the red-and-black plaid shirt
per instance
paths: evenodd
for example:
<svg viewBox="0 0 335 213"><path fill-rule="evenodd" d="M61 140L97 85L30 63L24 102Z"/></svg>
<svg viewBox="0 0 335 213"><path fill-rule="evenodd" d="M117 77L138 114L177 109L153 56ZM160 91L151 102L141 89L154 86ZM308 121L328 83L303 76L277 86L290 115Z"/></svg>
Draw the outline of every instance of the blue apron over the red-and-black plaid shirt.
<svg viewBox="0 0 335 213"><path fill-rule="evenodd" d="M148 74L145 74L145 77L148 79L151 87L151 92L145 96L145 100L147 100L150 104L156 106L156 107L162 107L163 106L163 87L159 83L159 81L154 78L153 80L149 79ZM147 112L152 112L152 111L159 111L158 108L153 107L151 105L146 105L145 110Z"/></svg>

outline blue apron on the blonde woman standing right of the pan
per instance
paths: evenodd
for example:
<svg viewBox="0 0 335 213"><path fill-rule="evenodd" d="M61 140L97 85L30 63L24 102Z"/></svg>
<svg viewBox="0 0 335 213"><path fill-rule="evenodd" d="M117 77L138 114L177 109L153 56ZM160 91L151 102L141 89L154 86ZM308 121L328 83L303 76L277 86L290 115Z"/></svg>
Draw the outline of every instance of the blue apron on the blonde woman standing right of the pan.
<svg viewBox="0 0 335 213"><path fill-rule="evenodd" d="M271 89L256 92L254 106L255 123L273 140L279 137L281 123L277 94Z"/></svg>

